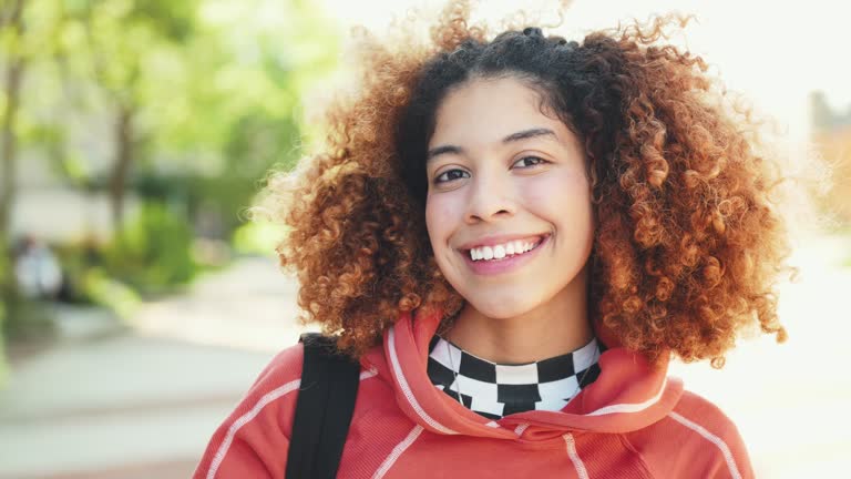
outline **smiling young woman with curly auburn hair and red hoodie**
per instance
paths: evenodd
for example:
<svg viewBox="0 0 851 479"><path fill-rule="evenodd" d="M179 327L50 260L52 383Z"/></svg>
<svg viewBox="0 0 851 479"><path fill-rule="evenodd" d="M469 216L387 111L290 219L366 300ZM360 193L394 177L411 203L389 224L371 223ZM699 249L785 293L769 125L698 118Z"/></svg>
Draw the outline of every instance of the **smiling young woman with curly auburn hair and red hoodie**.
<svg viewBox="0 0 851 479"><path fill-rule="evenodd" d="M361 365L344 478L752 477L736 427L667 377L783 339L772 162L665 21L582 43L369 44L325 154L273 186L309 320ZM215 432L198 478L284 477L303 348Z"/></svg>

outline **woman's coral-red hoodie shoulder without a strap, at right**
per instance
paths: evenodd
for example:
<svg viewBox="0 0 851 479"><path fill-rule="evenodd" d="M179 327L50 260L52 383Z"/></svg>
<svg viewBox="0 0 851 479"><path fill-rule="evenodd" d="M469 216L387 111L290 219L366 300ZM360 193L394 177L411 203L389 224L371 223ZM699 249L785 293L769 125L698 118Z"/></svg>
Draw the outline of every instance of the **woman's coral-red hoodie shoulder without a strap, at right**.
<svg viewBox="0 0 851 479"><path fill-rule="evenodd" d="M736 425L718 406L691 391L684 391L665 418L627 439L659 477L753 477Z"/></svg>

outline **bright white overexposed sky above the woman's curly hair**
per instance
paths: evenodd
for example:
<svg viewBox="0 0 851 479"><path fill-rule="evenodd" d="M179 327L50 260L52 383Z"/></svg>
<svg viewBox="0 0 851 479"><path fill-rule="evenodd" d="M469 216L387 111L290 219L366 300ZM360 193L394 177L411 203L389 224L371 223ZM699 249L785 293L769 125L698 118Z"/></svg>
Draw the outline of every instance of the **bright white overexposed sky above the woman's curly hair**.
<svg viewBox="0 0 851 479"><path fill-rule="evenodd" d="M519 2L479 3L479 11L483 11L482 4L488 7L486 18L499 19ZM545 7L555 2L523 3ZM363 26L380 34L393 16L404 16L411 7L434 11L442 2L322 0L322 4L341 27ZM580 40L583 32L615 27L618 20L694 13L697 22L689 24L679 41L704 57L712 72L751 100L758 112L776 119L789 140L802 141L809 136L810 92L824 92L834 111L851 109L851 55L843 39L849 16L842 4L829 0L575 0L558 33Z"/></svg>

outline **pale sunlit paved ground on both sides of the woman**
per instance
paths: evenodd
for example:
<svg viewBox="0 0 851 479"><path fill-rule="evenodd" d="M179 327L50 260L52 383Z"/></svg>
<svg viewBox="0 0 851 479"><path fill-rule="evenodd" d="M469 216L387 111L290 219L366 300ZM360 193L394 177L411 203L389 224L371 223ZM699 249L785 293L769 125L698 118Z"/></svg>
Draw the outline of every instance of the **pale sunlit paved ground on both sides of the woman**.
<svg viewBox="0 0 851 479"><path fill-rule="evenodd" d="M758 477L851 468L851 268L833 266L849 248L818 240L797 253L801 281L781 295L788 344L744 340L722 371L673 367L734 419ZM0 479L188 477L263 366L296 342L295 292L254 258L145 305L132 327L64 310L68 339L18 361L0 391Z"/></svg>

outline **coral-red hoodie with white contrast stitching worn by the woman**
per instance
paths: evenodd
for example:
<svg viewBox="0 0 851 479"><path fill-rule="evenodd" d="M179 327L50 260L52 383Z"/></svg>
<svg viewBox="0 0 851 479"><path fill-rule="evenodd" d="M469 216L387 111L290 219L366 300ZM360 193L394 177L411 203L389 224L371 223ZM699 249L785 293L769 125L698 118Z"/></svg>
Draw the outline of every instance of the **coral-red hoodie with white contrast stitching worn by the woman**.
<svg viewBox="0 0 851 479"><path fill-rule="evenodd" d="M714 405L637 354L611 348L561 411L493 421L435 388L426 366L438 316L403 315L361 359L340 478L751 478ZM303 349L280 353L213 435L196 479L284 478Z"/></svg>

